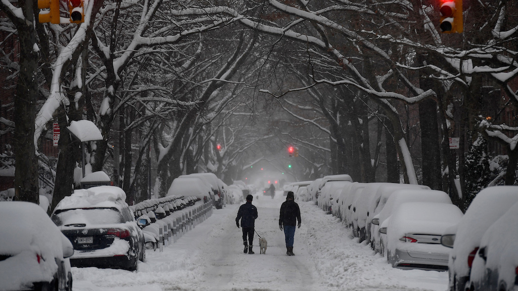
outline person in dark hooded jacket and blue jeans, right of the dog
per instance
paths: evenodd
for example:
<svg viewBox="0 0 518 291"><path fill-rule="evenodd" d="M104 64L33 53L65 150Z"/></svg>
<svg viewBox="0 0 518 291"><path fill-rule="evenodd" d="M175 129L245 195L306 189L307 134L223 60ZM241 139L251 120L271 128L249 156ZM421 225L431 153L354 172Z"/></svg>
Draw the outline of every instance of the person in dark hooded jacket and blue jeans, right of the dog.
<svg viewBox="0 0 518 291"><path fill-rule="evenodd" d="M293 237L295 236L295 226L298 221L300 228L300 208L294 201L293 192L288 192L286 201L282 202L279 215L279 228L284 230L284 239L286 241L286 255L293 256Z"/></svg>

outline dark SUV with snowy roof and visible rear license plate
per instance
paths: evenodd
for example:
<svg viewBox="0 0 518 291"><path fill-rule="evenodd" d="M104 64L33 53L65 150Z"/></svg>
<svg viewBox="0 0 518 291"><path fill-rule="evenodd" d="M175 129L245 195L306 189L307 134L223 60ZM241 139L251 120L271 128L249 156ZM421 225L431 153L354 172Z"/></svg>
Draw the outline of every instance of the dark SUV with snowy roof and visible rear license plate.
<svg viewBox="0 0 518 291"><path fill-rule="evenodd" d="M61 200L51 219L74 245L73 267L136 270L145 238L119 187L76 190Z"/></svg>

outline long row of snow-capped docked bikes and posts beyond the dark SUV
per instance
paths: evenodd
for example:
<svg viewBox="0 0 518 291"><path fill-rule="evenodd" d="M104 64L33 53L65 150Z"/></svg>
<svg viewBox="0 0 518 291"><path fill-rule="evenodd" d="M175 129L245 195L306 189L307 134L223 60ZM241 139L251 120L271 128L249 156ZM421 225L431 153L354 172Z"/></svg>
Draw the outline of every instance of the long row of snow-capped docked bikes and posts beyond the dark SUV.
<svg viewBox="0 0 518 291"><path fill-rule="evenodd" d="M204 222L212 215L213 200L207 202L197 199L186 201L183 197L167 196L157 199L149 199L130 206L136 217L145 216L148 220L155 218L156 213L163 213L165 217L156 219L142 229L147 237L151 236L155 241L155 246L162 252L164 246L175 243L187 231L193 229L198 224ZM183 200L180 203L178 200ZM183 205L176 206L176 205ZM175 207L176 206L176 207ZM167 210L167 211L166 211ZM139 215L141 213L146 213ZM151 217L149 217L151 216ZM146 240L148 241L148 240Z"/></svg>

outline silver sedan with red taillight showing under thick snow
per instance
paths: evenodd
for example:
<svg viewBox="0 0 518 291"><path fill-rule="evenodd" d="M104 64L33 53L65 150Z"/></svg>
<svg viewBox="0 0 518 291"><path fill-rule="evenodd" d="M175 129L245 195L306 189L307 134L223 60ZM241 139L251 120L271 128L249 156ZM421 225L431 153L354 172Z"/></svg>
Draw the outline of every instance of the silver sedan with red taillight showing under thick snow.
<svg viewBox="0 0 518 291"><path fill-rule="evenodd" d="M441 245L441 235L462 216L451 202L402 203L387 228L380 229L386 234L389 263L401 269L448 270L451 249Z"/></svg>

